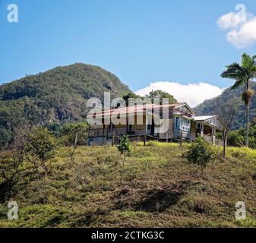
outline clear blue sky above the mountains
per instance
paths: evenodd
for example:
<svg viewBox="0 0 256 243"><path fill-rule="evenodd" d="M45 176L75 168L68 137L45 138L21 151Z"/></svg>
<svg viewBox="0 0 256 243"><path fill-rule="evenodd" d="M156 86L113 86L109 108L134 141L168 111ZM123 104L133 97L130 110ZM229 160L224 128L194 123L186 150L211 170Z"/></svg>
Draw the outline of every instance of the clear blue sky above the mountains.
<svg viewBox="0 0 256 243"><path fill-rule="evenodd" d="M11 3L18 23L7 21ZM254 0L1 0L0 83L84 62L134 91L156 81L228 87L225 65L256 54L256 43L237 48L216 24L239 3L256 14Z"/></svg>

